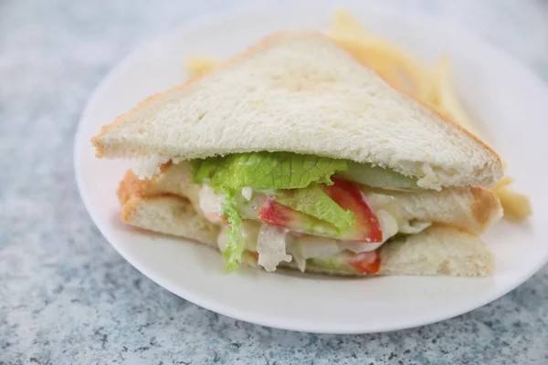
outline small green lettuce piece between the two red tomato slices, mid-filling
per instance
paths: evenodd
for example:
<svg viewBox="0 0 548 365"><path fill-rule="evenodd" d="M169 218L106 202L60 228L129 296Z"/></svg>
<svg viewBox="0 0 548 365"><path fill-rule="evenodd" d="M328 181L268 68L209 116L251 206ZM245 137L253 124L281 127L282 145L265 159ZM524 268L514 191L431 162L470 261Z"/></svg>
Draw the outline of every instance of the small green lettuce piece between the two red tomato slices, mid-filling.
<svg viewBox="0 0 548 365"><path fill-rule="evenodd" d="M293 210L329 222L340 230L350 228L354 223L353 212L342 209L323 192L318 183L311 183L302 189L277 191L274 193L274 199Z"/></svg>

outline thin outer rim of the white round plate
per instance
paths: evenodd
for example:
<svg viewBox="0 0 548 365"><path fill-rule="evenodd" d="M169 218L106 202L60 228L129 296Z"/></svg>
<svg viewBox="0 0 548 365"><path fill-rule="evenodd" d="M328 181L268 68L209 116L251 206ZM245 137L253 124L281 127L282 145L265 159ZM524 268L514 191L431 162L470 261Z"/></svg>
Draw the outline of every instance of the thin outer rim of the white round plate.
<svg viewBox="0 0 548 365"><path fill-rule="evenodd" d="M462 35L463 37L466 37L468 39L472 39L477 44L481 44L483 47L486 48L486 52L503 56L507 62L511 62L512 68L521 68L522 72L525 72L527 75L527 78L530 78L531 81L536 83L540 88L543 89L545 96L548 96L548 89L546 88L546 84L543 82L543 80L527 65L523 64L517 57L514 57L510 53L504 51L501 48L493 46L490 42L483 39L481 36L477 36L473 32L468 31L467 29L464 29L460 26L456 26L455 24L451 22L441 22L438 19L435 19L431 16L427 16L424 14L419 14L416 12L407 12L405 15L403 14L395 14L393 11L382 8L382 7L376 7L376 6L356 6L352 5L348 7L349 10L357 9L359 8L361 12L367 12L370 15L374 14L380 14L381 16L391 17L392 19L410 19L415 23L418 21L426 22L427 24L431 24L435 26L436 28L441 27L444 28L445 31L451 31L451 32L458 32L459 35ZM229 12L224 15L219 14L211 14L206 16L201 16L199 18L196 18L195 20L191 20L187 22L184 25L181 26L175 26L174 28L167 30L165 32L162 32L160 34L157 34L150 38L149 40L146 40L142 43L137 44L132 51L130 51L125 57L121 59L118 63L116 63L109 71L108 73L100 80L100 83L96 86L96 88L93 90L93 92L90 94L90 98L88 99L85 108L82 111L82 114L79 118L78 127L75 132L75 137L73 141L73 168L76 178L77 187L79 190L79 195L84 203L84 206L86 208L86 211L90 215L90 218L95 224L95 226L99 229L100 234L106 239L106 241L109 242L109 244L115 249L118 254L120 254L124 260L128 261L130 265L135 267L142 275L150 278L153 280L154 283L158 284L160 287L163 287L164 289L174 293L178 297L182 297L187 301L190 301L191 303L194 303L195 305L206 308L208 310L214 311L216 313L222 314L224 316L227 316L229 318L236 318L238 320L246 321L249 323L261 325L261 326L268 326L270 328L279 328L279 329L289 329L294 331L301 331L301 332L310 332L310 333L326 333L326 334L358 334L358 333L380 333L380 332L386 332L386 331L394 331L394 330L401 330L406 328L417 328L426 326L428 324L436 323L441 320L449 319L449 318L455 318L458 317L464 313L467 313L471 310L474 310L476 308L483 307L490 302L497 300L500 297L503 297L504 295L511 292L516 287L519 287L522 285L525 281L529 280L533 275L539 272L539 270L545 266L548 263L548 252L543 257L543 260L539 261L539 265L534 266L532 269L529 270L526 276L523 276L524 278L522 280L518 280L517 284L511 285L505 290L502 290L501 292L497 292L496 295L490 296L487 298L484 298L484 300L480 300L477 302L470 303L468 306L462 306L458 310L455 310L452 314L448 315L445 312L440 312L437 316L432 316L432 318L429 318L428 320L421 321L420 323L414 322L414 324L395 324L395 325L388 325L383 328L372 328L372 329L359 329L359 326L357 327L348 327L348 326L342 326L339 328L325 328L320 326L316 326L315 328L311 328L311 326L306 326L304 324L295 324L294 322L287 322L287 320L279 320L277 317L265 317L264 315L257 315L256 313L244 313L239 308L234 307L227 307L226 305L213 301L210 302L207 299L202 299L201 297L195 295L194 293L190 291L186 291L182 289L181 287L174 287L169 280L164 279L162 275L156 275L153 271L150 269L147 269L146 267L143 267L141 263L138 262L138 260L133 259L132 255L130 255L128 252L126 252L123 247L120 245L117 245L113 242L116 241L116 239L113 239L111 236L111 233L109 230L105 229L104 227L101 228L101 224L98 224L99 219L96 216L95 213L93 213L93 210L90 209L90 201L88 200L88 196L86 194L86 190L83 188L84 184L82 183L82 173L81 169L83 169L83 166L81 163L79 163L79 151L81 150L82 143L86 142L85 136L82 135L82 125L84 124L85 120L88 120L90 117L91 110L95 109L95 104L97 104L98 99L100 99L100 95L103 93L105 89L109 89L111 86L113 80L117 78L123 70L127 68L127 65L132 62L132 58L135 57L136 54L140 52L140 50L144 47L148 47L150 44L156 43L159 40L168 37L168 36L174 36L174 34L184 34L184 33L190 33L196 30L199 30L201 28L205 28L208 26L214 26L216 23L222 23L226 22L234 17L248 17L248 16L264 16L266 13L271 13L272 11L276 12L278 15L283 12L284 9L290 9L290 10L306 10L311 9L310 5L297 5L297 6L280 6L280 7L258 7L258 8L251 8L246 10L237 10L234 12ZM319 12L320 10L325 11L326 14L329 14L329 8L318 8L314 7L314 12ZM332 6L331 6L332 10ZM89 142L89 141L88 141ZM411 321L413 322L413 321Z"/></svg>

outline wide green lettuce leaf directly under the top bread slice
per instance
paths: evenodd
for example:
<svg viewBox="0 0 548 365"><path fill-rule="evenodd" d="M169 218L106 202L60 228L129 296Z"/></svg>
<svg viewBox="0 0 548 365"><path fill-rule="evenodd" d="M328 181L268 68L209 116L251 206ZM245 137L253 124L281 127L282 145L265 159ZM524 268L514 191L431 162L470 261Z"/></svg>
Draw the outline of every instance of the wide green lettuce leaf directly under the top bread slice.
<svg viewBox="0 0 548 365"><path fill-rule="evenodd" d="M194 183L209 183L214 189L257 190L305 188L311 183L332 184L335 172L345 171L349 161L292 152L234 153L191 163Z"/></svg>

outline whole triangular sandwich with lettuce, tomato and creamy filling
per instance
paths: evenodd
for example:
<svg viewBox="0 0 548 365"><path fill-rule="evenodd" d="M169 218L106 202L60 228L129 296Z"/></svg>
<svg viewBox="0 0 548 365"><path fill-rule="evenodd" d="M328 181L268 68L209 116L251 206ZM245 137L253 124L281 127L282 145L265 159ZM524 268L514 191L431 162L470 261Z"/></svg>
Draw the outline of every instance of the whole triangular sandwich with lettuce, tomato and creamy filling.
<svg viewBox="0 0 548 365"><path fill-rule="evenodd" d="M490 276L501 218L490 146L331 39L267 36L92 138L133 162L127 224L211 245L227 269Z"/></svg>

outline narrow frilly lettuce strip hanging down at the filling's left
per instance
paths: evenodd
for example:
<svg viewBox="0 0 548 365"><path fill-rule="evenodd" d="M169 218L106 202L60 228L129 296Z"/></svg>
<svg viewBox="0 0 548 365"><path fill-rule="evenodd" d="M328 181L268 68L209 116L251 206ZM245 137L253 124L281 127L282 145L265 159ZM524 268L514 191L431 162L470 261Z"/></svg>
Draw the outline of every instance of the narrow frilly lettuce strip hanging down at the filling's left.
<svg viewBox="0 0 548 365"><path fill-rule="evenodd" d="M225 194L223 202L223 215L228 219L230 231L227 233L227 250L223 253L227 260L227 270L234 271L242 262L242 255L246 248L246 242L242 235L242 218L237 213L237 203L234 193L228 189L222 189Z"/></svg>

